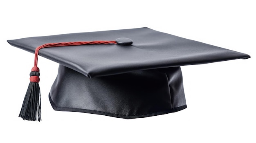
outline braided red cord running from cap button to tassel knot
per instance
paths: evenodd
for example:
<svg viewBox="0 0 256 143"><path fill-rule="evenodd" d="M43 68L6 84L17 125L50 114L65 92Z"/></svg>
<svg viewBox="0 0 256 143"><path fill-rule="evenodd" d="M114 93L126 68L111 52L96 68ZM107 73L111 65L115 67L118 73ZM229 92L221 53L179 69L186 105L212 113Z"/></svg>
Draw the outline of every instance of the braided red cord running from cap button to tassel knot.
<svg viewBox="0 0 256 143"><path fill-rule="evenodd" d="M89 44L117 44L115 41L88 41L88 42L59 42L59 43L47 43L38 46L35 51L34 66L37 67L38 52L42 48L56 47L56 46L76 46L76 45L89 45Z"/></svg>

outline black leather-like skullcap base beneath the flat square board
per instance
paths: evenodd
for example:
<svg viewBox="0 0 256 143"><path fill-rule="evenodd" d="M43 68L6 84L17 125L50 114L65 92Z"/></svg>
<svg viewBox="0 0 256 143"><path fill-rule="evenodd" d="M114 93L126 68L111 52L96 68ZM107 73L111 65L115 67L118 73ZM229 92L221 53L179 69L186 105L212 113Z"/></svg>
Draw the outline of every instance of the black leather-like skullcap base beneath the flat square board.
<svg viewBox="0 0 256 143"><path fill-rule="evenodd" d="M49 99L54 110L125 119L186 108L180 67L88 78L60 65Z"/></svg>

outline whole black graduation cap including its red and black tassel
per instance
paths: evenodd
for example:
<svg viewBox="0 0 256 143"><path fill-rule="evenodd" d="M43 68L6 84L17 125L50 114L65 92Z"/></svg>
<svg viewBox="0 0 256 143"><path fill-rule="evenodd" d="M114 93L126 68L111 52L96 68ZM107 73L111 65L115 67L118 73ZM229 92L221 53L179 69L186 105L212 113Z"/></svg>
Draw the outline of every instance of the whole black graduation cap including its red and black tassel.
<svg viewBox="0 0 256 143"><path fill-rule="evenodd" d="M49 93L54 110L125 119L186 108L180 66L250 57L146 27L7 42L35 53L19 115L33 121L41 120L38 55L60 64Z"/></svg>

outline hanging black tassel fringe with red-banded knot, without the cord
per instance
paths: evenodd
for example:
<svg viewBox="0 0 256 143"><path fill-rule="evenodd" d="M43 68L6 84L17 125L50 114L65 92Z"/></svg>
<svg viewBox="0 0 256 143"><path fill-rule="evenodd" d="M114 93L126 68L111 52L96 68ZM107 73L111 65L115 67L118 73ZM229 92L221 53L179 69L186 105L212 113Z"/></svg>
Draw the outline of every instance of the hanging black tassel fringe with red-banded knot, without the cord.
<svg viewBox="0 0 256 143"><path fill-rule="evenodd" d="M20 110L19 117L29 121L41 121L41 95L38 84L40 81L39 68L34 66L29 75L30 83Z"/></svg>

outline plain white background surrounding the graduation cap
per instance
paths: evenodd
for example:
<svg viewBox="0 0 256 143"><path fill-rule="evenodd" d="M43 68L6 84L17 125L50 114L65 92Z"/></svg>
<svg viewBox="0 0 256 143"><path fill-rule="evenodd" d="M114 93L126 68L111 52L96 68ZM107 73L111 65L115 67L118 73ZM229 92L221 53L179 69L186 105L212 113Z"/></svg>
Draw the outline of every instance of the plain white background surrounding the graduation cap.
<svg viewBox="0 0 256 143"><path fill-rule="evenodd" d="M0 18L1 143L256 142L253 0L2 0ZM6 40L144 26L252 58L183 66L188 108L126 120L54 111L48 93L58 64L39 57L43 121L18 118L34 55L10 46Z"/></svg>

